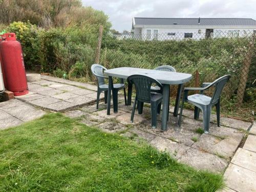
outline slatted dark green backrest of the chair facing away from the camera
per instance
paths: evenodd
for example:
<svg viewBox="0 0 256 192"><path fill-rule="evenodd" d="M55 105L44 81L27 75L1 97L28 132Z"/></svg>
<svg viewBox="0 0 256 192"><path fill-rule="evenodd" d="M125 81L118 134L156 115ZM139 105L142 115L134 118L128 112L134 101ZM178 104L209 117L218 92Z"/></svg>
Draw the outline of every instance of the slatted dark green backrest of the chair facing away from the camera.
<svg viewBox="0 0 256 192"><path fill-rule="evenodd" d="M153 83L156 83L161 89L163 87L158 80L145 75L131 75L127 80L135 85L137 100L141 102L151 102L151 86Z"/></svg>

